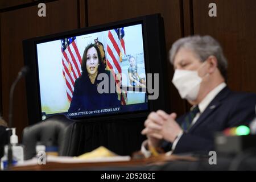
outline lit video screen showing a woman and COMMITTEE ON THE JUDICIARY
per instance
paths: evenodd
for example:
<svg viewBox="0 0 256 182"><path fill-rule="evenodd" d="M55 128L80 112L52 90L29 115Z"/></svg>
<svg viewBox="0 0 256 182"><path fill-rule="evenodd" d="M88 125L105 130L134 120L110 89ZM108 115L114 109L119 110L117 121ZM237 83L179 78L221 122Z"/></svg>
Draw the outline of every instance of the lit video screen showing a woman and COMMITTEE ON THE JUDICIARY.
<svg viewBox="0 0 256 182"><path fill-rule="evenodd" d="M36 44L42 120L148 110L142 24Z"/></svg>

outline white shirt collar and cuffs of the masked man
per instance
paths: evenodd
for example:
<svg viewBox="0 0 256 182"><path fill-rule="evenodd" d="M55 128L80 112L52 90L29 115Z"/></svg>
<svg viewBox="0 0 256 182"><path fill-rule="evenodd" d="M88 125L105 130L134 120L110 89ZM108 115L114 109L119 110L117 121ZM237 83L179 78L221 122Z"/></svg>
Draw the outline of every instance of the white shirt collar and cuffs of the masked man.
<svg viewBox="0 0 256 182"><path fill-rule="evenodd" d="M218 86L216 86L216 88L214 88L213 90L211 90L207 96L204 97L204 99L199 103L199 110L200 112L196 114L195 118L193 118L193 121L191 123L191 126L195 125L197 119L200 117L201 113L204 112L204 110L207 108L207 106L210 104L210 102L212 102L212 100L217 96L218 93L221 92L222 89L224 89L226 87L226 83L222 82L221 84L219 84ZM195 107L196 105L193 105L191 107L191 109L193 109L193 107ZM179 142L179 139L181 138L181 136L183 135L183 131L181 131L179 133L179 135L177 135L177 138L174 140L174 142L172 143L172 150L170 152L167 152L167 155L171 154L172 151L175 150L175 147L177 145L177 143ZM142 143L142 147L141 147L141 151L142 153L147 157L151 155L150 151L146 150L146 144L147 144L147 140L145 140Z"/></svg>

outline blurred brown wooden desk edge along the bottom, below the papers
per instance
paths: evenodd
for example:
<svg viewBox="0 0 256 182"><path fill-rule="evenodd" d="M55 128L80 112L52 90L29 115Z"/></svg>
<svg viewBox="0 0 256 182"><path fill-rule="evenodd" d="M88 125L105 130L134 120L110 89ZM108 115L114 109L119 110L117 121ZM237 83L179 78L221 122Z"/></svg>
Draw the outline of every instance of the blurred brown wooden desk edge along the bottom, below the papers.
<svg viewBox="0 0 256 182"><path fill-rule="evenodd" d="M158 156L148 159L136 159L126 162L97 162L97 163L47 163L46 165L33 165L13 167L12 170L256 170L256 156L218 156L217 164L210 165L208 158L193 158L190 156Z"/></svg>

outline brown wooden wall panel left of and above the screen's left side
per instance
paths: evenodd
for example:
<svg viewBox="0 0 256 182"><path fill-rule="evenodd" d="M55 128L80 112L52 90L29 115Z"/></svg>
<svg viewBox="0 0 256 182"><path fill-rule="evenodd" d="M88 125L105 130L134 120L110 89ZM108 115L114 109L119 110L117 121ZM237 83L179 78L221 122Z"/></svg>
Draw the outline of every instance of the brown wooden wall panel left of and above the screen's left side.
<svg viewBox="0 0 256 182"><path fill-rule="evenodd" d="M60 0L46 4L46 17L38 16L38 7L1 13L1 60L3 117L8 121L10 86L23 67L22 40L73 30L79 27L78 1ZM13 125L20 135L28 124L24 79L15 89Z"/></svg>

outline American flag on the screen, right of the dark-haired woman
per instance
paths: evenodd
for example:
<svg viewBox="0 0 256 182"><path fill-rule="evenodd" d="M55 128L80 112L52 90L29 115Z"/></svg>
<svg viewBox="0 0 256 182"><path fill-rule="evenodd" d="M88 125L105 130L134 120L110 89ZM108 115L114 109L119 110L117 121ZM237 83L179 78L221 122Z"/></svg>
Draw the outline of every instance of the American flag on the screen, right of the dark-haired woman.
<svg viewBox="0 0 256 182"><path fill-rule="evenodd" d="M123 37L125 36L125 31L123 28L117 28L109 30L108 41L107 41L107 65L112 72L117 84L117 89L120 91L121 81L122 81L122 55L125 55L125 41ZM118 74L119 73L119 74ZM119 92L120 93L120 92ZM127 93L122 92L121 94L121 104L126 105Z"/></svg>

